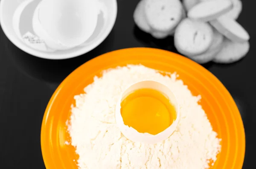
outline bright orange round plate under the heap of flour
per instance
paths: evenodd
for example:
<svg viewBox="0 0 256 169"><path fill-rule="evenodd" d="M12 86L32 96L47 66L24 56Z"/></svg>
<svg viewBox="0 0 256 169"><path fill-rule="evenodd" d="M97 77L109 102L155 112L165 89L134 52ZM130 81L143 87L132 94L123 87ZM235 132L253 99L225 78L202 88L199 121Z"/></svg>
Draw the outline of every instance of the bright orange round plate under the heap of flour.
<svg viewBox="0 0 256 169"><path fill-rule="evenodd" d="M52 95L41 128L41 149L47 169L78 169L75 148L66 121L74 95L100 76L102 70L142 64L165 72L177 72L193 95L201 95L201 105L214 131L222 139L221 153L212 169L241 169L244 161L245 135L239 110L223 84L204 67L178 54L160 49L132 48L103 54L84 63L71 73Z"/></svg>

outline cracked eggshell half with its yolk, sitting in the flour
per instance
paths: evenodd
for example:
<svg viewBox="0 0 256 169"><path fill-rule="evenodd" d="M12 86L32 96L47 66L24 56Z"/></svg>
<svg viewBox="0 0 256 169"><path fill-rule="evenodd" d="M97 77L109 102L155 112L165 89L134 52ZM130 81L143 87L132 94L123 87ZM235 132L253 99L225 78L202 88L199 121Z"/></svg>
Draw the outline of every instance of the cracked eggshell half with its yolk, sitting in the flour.
<svg viewBox="0 0 256 169"><path fill-rule="evenodd" d="M116 104L116 123L131 141L158 143L175 131L179 109L175 95L162 83L141 81L128 87Z"/></svg>

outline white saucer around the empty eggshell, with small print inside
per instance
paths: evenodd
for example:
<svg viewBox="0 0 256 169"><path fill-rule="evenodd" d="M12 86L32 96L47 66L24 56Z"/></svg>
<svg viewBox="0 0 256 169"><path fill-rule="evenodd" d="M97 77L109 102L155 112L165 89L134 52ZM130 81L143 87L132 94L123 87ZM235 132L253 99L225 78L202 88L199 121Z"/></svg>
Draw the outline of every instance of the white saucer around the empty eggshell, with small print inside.
<svg viewBox="0 0 256 169"><path fill-rule="evenodd" d="M22 26L22 22L20 22L23 9L25 12L26 6L29 6L32 3L32 8L35 8L40 1L41 0L0 0L0 24L3 32L9 38L9 40L15 44L15 46L36 57L58 60L68 59L85 54L99 46L99 44L106 39L108 34L113 29L116 21L116 0L99 0L100 4L102 5L102 11L98 15L98 23L93 35L85 43L75 48L63 51L48 50L47 47L44 47L45 44L41 43L41 40L38 40L35 32L33 32L33 29L31 29L32 27L28 26L27 30L24 32L22 27L25 27L26 29L26 26ZM25 14L23 14L23 16L24 15ZM26 22L31 22L32 25L32 16L26 18L28 18ZM20 27L21 30L19 29ZM35 44L29 42L28 37L30 40L32 38L34 42L37 41L39 43ZM37 48L40 48L40 50L37 50Z"/></svg>

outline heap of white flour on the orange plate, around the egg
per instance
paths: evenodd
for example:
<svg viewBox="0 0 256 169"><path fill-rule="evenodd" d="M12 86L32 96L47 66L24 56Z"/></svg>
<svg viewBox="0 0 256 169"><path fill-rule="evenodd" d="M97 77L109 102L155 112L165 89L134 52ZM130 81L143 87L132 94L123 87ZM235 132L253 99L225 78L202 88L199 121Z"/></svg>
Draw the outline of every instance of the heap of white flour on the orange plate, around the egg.
<svg viewBox="0 0 256 169"><path fill-rule="evenodd" d="M176 74L163 76L145 66L128 65L103 72L75 96L68 130L76 147L79 169L206 169L221 149L217 133L198 101ZM142 80L169 86L180 103L180 121L167 140L154 145L133 143L115 123L122 90Z"/></svg>

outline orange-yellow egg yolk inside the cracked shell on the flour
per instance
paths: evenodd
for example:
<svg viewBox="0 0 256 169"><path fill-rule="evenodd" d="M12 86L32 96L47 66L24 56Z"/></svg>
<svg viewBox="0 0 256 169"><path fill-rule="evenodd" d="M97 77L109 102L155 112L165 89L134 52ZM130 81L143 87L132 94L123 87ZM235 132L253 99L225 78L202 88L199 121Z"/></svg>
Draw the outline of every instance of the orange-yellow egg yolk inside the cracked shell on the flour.
<svg viewBox="0 0 256 169"><path fill-rule="evenodd" d="M176 119L175 107L155 89L138 89L121 102L124 124L140 133L157 135Z"/></svg>

